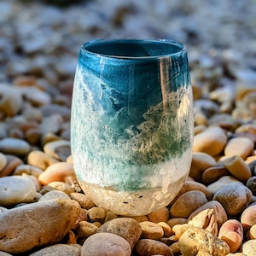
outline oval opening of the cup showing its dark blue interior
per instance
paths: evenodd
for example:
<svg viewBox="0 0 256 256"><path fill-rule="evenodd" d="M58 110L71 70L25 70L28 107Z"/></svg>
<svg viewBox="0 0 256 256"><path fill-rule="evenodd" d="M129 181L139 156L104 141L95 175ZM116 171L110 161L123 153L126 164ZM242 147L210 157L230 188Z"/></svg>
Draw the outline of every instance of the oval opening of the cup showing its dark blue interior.
<svg viewBox="0 0 256 256"><path fill-rule="evenodd" d="M141 39L100 39L90 41L82 47L82 50L93 55L128 59L177 55L183 49L183 44L171 40Z"/></svg>

